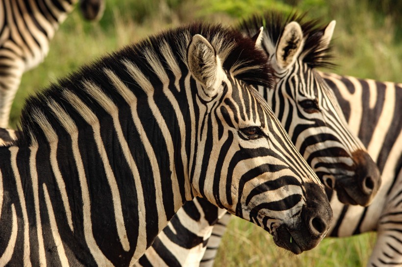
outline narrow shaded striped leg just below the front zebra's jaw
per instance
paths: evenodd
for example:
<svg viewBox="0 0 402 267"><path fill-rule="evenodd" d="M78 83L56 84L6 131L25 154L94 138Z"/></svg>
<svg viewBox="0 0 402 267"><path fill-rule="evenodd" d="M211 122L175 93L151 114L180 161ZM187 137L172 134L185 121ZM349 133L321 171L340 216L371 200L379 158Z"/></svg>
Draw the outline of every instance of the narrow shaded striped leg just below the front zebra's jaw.
<svg viewBox="0 0 402 267"><path fill-rule="evenodd" d="M204 256L202 257L200 267L213 267L216 254L218 253L219 244L221 243L222 237L225 234L226 226L230 222L230 213L225 213L218 223L214 225L212 229L211 237L208 239L206 244L206 250Z"/></svg>

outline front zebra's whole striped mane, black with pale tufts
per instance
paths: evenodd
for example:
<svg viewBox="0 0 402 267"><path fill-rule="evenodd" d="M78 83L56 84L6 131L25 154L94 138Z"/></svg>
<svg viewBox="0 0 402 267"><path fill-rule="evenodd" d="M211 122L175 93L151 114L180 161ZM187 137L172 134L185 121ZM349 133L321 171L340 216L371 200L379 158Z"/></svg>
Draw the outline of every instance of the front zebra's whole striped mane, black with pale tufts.
<svg viewBox="0 0 402 267"><path fill-rule="evenodd" d="M107 73L116 74L118 79L138 95L144 95L155 87L160 88L161 82L169 83L181 75L187 75L187 48L196 34L201 34L211 43L223 68L236 79L251 85L272 86L273 75L268 59L264 52L255 48L255 43L250 38L219 24L193 23L151 36L138 44L128 45L93 64L81 67L42 92L28 97L18 126L22 131L21 138L13 145L47 143L51 142L51 136L57 137L58 134L53 133L62 131L60 129L63 127L59 121L60 116L59 119L55 117L55 107L71 116L75 123L82 121L82 117L71 105L71 98L66 99L70 92L95 114L102 112L102 109L96 104L91 92L84 90L91 85L95 85L91 88L97 88L117 107L120 104L124 106L126 102L111 86ZM144 85L147 85L147 89Z"/></svg>

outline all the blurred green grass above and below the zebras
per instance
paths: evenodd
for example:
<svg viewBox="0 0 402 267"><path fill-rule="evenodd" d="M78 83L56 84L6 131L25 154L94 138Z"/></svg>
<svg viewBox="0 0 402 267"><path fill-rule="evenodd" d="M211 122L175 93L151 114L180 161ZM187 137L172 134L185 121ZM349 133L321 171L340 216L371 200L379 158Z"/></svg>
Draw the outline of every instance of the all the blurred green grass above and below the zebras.
<svg viewBox="0 0 402 267"><path fill-rule="evenodd" d="M23 76L11 111L19 121L24 99L100 55L180 23L194 20L234 24L275 8L308 11L312 19L336 20L334 72L402 82L401 0L106 0L100 22L84 22L78 9L61 25L45 62ZM221 244L217 267L365 266L375 234L324 240L300 256L277 248L262 229L232 219Z"/></svg>

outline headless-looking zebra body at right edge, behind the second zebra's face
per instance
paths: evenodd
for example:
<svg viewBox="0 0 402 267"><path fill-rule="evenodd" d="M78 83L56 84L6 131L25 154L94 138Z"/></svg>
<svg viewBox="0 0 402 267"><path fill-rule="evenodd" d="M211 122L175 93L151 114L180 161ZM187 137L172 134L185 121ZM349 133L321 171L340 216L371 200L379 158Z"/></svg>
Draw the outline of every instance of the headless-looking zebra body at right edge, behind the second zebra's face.
<svg viewBox="0 0 402 267"><path fill-rule="evenodd" d="M358 79L333 73L320 75L334 90L352 131L381 171L382 185L368 207L331 199L331 237L377 231L369 267L402 266L402 84Z"/></svg>

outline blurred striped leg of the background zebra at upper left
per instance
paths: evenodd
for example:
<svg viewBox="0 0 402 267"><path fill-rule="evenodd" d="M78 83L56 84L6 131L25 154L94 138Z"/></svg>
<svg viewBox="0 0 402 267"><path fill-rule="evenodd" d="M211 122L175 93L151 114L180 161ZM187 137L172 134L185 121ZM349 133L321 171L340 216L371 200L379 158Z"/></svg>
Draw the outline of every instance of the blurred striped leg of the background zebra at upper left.
<svg viewBox="0 0 402 267"><path fill-rule="evenodd" d="M1 54L0 54L1 56ZM2 62L0 66L0 128L8 127L11 105L24 72L22 61Z"/></svg>

